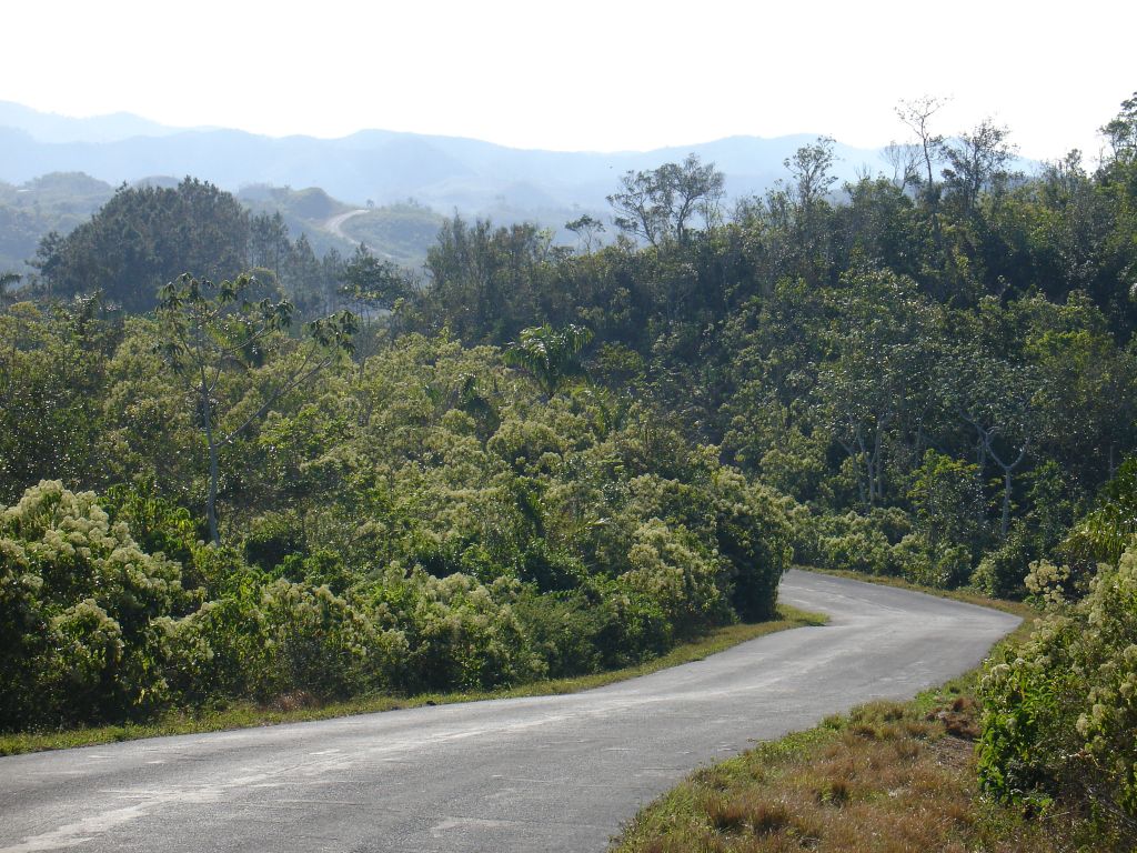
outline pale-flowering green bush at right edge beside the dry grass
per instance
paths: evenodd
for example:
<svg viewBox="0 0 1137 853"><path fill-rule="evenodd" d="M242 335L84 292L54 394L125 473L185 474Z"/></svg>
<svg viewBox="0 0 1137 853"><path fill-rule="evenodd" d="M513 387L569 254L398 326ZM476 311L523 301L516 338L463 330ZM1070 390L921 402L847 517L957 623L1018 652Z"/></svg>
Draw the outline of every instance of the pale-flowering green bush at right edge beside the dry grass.
<svg viewBox="0 0 1137 853"><path fill-rule="evenodd" d="M1069 603L1069 572L1036 563L1028 588L1048 615L1030 641L994 659L981 684L980 773L1004 798L1065 796L1137 830L1137 549L1102 565ZM1135 836L1137 840L1137 836Z"/></svg>

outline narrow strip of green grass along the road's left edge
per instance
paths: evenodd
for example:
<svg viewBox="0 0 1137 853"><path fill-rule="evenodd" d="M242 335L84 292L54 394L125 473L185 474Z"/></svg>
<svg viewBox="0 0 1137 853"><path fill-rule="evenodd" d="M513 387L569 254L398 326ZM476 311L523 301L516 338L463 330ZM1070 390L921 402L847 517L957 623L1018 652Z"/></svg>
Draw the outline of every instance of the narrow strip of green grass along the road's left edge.
<svg viewBox="0 0 1137 853"><path fill-rule="evenodd" d="M315 703L310 697L289 695L279 698L271 705L242 702L234 703L227 707L208 711L172 711L160 719L147 723L125 723L122 726L100 726L97 728L68 729L63 731L0 735L0 755L17 755L44 750L65 750L74 746L93 746L96 744L134 740L143 737L196 735L207 731L223 731L256 726L275 726L284 722L326 720L333 717L370 714L380 711L420 707L422 705L579 693L580 690L588 690L594 687L603 687L616 681L646 676L669 666L678 666L681 663L702 661L708 655L723 652L731 646L737 646L739 643L763 637L767 633L789 628L824 624L827 621L825 616L819 613L808 613L786 605L779 606L778 611L779 618L775 620L719 628L705 637L677 646L662 657L621 670L611 670L608 672L598 672L575 678L533 681L496 690L433 693L417 696L363 696L335 703Z"/></svg>

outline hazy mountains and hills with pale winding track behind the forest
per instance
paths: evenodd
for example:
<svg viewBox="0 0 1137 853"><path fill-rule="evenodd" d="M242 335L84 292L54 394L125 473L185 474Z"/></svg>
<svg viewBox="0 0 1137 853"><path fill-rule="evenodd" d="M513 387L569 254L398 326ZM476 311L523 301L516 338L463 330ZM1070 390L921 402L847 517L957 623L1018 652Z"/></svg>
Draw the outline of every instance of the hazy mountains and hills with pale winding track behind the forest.
<svg viewBox="0 0 1137 853"><path fill-rule="evenodd" d="M725 175L729 199L763 193L787 176L783 160L816 134L731 136L654 151L522 150L456 136L360 131L342 139L262 136L216 127L167 127L127 113L69 118L0 101L0 272L25 262L49 231L66 233L123 183L210 181L254 213L280 212L317 254L357 242L418 266L443 216L559 230L581 214L607 221L606 196L629 169L688 154ZM880 150L837 142L833 174L891 175ZM1032 171L1021 160L1016 166Z"/></svg>

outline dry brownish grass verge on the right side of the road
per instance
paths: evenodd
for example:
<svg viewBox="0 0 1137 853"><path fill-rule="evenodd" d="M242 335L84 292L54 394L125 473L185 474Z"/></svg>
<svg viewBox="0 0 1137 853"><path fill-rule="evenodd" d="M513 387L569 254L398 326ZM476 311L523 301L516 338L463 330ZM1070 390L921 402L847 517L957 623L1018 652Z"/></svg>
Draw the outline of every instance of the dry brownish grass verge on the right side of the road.
<svg viewBox="0 0 1137 853"><path fill-rule="evenodd" d="M1021 643L1032 630L1032 611L1024 605L953 597L1023 616L1005 644ZM974 670L911 702L871 703L702 768L644 809L612 851L1085 848L1087 830L1069 815L1039 819L981 795L977 678Z"/></svg>

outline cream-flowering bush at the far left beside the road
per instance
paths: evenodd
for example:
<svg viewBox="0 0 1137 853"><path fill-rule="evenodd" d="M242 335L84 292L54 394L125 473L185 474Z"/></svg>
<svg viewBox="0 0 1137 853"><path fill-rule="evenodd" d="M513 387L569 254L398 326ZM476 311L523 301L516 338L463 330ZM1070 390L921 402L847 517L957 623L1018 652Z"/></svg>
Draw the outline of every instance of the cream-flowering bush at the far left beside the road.
<svg viewBox="0 0 1137 853"><path fill-rule="evenodd" d="M181 568L142 552L91 492L58 481L0 507L0 726L93 721L164 701Z"/></svg>

